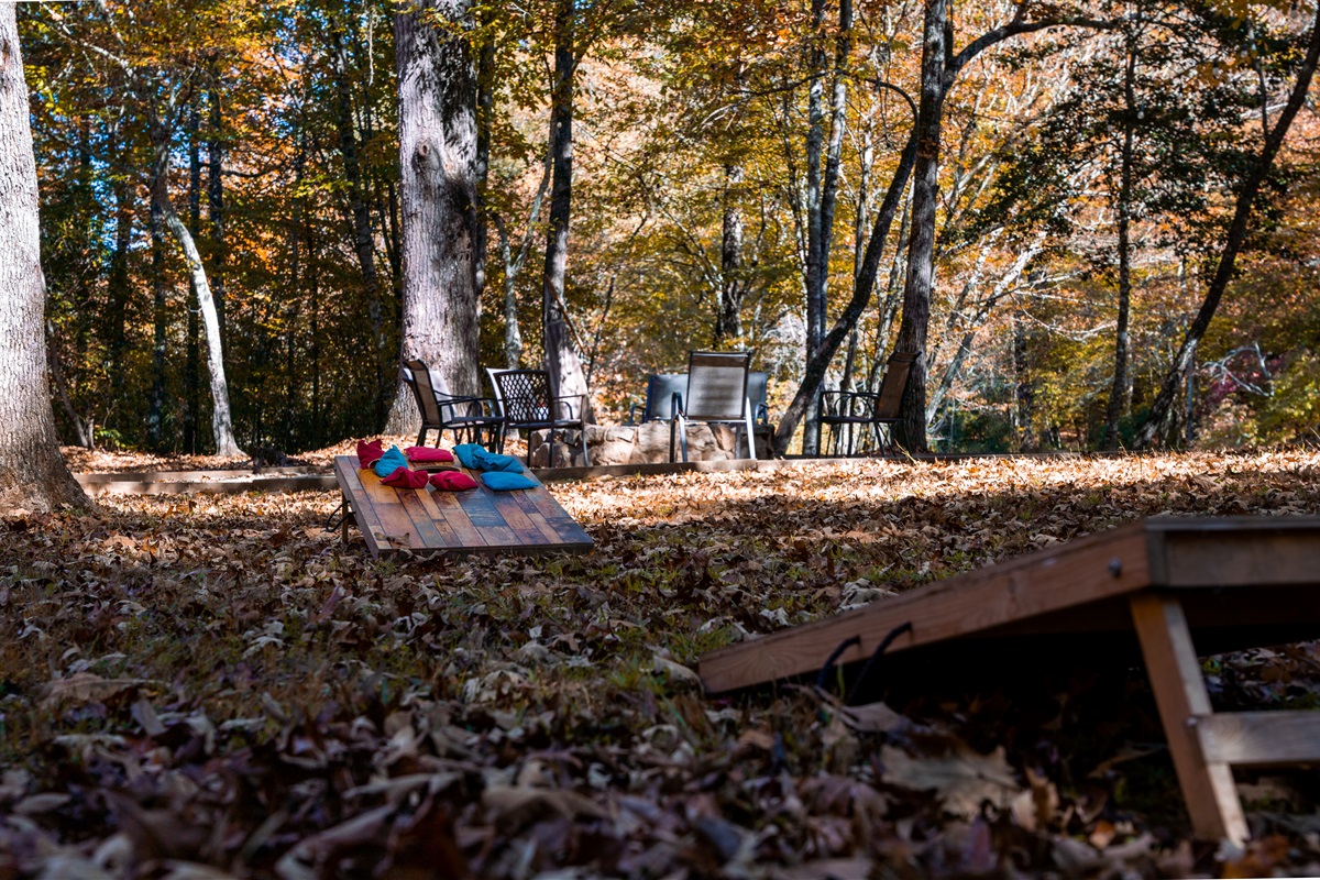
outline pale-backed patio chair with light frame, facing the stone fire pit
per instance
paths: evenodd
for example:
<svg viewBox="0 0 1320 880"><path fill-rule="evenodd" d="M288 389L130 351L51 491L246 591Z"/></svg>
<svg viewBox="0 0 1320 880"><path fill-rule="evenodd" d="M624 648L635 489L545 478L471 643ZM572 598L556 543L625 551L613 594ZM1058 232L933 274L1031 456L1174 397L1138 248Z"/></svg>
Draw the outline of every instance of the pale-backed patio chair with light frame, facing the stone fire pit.
<svg viewBox="0 0 1320 880"><path fill-rule="evenodd" d="M752 429L752 405L747 397L750 351L693 351L688 355L688 385L673 394L673 420L669 422L669 460L677 433L682 460L688 460L688 422L735 425L747 438L747 451L756 458ZM737 437L734 449L738 449Z"/></svg>

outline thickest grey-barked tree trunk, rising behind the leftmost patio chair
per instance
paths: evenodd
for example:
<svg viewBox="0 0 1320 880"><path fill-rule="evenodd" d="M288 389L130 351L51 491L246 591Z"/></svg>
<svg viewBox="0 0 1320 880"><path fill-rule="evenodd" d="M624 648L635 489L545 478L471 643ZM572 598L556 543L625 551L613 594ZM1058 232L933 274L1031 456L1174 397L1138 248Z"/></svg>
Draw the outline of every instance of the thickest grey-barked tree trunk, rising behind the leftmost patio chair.
<svg viewBox="0 0 1320 880"><path fill-rule="evenodd" d="M403 356L425 360L455 394L478 389L477 69L469 41L444 25L470 15L467 0L395 13ZM385 430L412 433L418 422L400 383Z"/></svg>

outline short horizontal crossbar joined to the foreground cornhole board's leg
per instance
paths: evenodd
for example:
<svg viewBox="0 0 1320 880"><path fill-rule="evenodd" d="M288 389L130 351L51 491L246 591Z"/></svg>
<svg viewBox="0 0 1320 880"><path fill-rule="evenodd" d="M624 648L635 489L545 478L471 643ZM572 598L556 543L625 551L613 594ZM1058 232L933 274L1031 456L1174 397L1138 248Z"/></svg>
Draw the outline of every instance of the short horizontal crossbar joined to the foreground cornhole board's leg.
<svg viewBox="0 0 1320 880"><path fill-rule="evenodd" d="M1192 720L1201 756L1209 764L1320 763L1320 711L1217 712Z"/></svg>

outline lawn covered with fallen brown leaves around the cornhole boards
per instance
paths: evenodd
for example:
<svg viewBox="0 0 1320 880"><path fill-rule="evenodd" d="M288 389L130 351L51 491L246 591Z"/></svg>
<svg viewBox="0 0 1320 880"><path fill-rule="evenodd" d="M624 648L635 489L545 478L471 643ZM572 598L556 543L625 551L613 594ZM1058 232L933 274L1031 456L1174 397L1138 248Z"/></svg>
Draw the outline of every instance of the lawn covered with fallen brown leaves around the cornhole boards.
<svg viewBox="0 0 1320 880"><path fill-rule="evenodd" d="M0 876L1320 873L1313 776L1242 778L1245 851L1189 839L1139 670L855 710L690 672L1140 516L1320 513L1320 454L552 491L594 553L374 562L334 493L0 520ZM1206 672L1221 708L1320 703L1313 643Z"/></svg>

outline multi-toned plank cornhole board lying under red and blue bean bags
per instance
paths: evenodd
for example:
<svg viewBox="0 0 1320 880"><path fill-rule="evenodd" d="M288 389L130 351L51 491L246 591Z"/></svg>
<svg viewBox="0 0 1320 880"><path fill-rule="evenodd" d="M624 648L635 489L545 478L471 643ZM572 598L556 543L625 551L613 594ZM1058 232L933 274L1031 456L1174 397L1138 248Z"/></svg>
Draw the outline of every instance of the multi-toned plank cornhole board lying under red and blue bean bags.
<svg viewBox="0 0 1320 880"><path fill-rule="evenodd" d="M591 536L537 482L536 488L495 492L473 471L475 489L397 489L356 455L337 455L334 475L371 555L433 553L586 553Z"/></svg>

